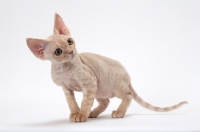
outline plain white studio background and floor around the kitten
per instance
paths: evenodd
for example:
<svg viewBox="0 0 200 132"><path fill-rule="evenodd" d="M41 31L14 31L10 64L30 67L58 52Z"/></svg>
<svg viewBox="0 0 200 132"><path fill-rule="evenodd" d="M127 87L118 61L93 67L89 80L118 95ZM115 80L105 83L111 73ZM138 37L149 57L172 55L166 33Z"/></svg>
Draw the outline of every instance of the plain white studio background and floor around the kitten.
<svg viewBox="0 0 200 132"><path fill-rule="evenodd" d="M25 41L50 36L55 12L79 53L120 61L144 100L189 105L156 113L133 101L125 118L112 119L120 103L114 98L98 118L69 121L50 62L37 59ZM200 1L1 0L0 18L0 131L200 130ZM80 104L82 94L76 96Z"/></svg>

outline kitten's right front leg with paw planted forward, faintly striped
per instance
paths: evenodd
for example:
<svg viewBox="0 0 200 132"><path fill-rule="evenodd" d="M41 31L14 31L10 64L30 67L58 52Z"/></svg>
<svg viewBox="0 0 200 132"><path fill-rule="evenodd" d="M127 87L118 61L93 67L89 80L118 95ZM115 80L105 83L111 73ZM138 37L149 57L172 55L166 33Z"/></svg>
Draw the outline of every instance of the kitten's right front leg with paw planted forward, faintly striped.
<svg viewBox="0 0 200 132"><path fill-rule="evenodd" d="M82 88L83 90L83 101L81 103L80 112L77 114L73 114L71 120L74 122L85 122L90 113L91 107L94 102L94 98L96 96L97 86L96 83L94 85L86 86Z"/></svg>

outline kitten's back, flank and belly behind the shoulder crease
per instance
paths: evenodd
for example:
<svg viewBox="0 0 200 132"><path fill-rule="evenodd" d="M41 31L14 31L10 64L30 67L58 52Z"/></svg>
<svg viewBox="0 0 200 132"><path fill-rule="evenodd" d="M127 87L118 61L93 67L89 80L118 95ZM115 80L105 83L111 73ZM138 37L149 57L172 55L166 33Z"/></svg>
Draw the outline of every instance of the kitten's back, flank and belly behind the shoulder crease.
<svg viewBox="0 0 200 132"><path fill-rule="evenodd" d="M112 98L116 89L128 87L129 75L118 61L92 53L81 53L80 59L97 79L96 98Z"/></svg>

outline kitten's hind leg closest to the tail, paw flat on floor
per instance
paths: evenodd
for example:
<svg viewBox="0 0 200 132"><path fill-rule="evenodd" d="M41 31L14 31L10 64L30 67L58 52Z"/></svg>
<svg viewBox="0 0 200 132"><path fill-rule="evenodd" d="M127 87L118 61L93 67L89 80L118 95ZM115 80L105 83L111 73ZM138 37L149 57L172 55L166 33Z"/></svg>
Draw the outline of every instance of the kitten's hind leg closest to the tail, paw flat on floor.
<svg viewBox="0 0 200 132"><path fill-rule="evenodd" d="M132 101L132 92L129 87L116 91L116 97L122 99L118 109L112 112L113 118L123 118Z"/></svg>

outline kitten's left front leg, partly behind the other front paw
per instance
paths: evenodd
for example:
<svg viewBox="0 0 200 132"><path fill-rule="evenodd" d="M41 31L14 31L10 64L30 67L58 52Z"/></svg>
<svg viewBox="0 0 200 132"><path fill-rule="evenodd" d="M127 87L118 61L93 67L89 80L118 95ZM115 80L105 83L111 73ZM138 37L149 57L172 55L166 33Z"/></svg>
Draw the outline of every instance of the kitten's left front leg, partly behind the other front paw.
<svg viewBox="0 0 200 132"><path fill-rule="evenodd" d="M78 104L77 104L76 99L74 97L74 91L69 90L66 87L63 87L63 91L65 93L66 100L67 100L67 103L68 103L68 106L69 106L69 109L70 109L70 112L71 112L69 118L72 119L72 116L74 114L79 113L80 108L78 107Z"/></svg>

